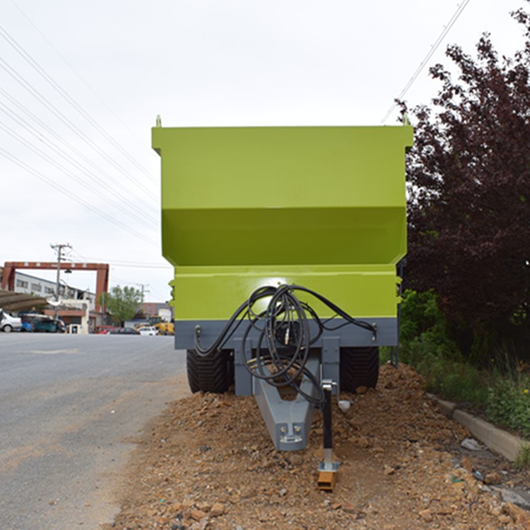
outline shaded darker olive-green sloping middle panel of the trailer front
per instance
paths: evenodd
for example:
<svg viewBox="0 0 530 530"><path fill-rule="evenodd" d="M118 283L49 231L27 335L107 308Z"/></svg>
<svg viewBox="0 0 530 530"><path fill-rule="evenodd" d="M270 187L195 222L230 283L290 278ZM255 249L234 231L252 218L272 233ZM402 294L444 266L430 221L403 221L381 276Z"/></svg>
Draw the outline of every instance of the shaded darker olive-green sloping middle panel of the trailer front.
<svg viewBox="0 0 530 530"><path fill-rule="evenodd" d="M163 211L174 265L396 263L406 248L404 208L181 209Z"/></svg>

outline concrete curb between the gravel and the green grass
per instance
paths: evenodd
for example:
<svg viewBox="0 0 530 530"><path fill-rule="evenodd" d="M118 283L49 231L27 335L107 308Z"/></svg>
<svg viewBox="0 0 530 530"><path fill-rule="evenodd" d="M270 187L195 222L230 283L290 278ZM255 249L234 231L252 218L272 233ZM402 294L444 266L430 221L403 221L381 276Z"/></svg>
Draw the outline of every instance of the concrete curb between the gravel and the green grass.
<svg viewBox="0 0 530 530"><path fill-rule="evenodd" d="M517 459L517 454L522 447L530 446L530 442L526 442L522 438L510 434L510 432L499 429L495 425L481 420L481 418L476 418L476 416L459 410L457 404L451 401L444 401L433 394L426 395L431 401L434 401L435 404L440 406L444 416L463 425L477 440L485 444L488 449L502 454L503 457L512 462Z"/></svg>

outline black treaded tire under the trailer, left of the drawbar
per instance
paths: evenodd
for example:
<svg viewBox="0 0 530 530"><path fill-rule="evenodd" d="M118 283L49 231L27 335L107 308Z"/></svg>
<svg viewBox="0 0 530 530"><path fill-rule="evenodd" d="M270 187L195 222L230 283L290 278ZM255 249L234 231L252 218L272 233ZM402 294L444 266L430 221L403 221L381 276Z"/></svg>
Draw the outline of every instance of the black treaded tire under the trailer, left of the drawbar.
<svg viewBox="0 0 530 530"><path fill-rule="evenodd" d="M223 394L234 382L234 358L231 350L216 351L207 357L200 357L195 350L188 350L186 363L192 392L202 390Z"/></svg>

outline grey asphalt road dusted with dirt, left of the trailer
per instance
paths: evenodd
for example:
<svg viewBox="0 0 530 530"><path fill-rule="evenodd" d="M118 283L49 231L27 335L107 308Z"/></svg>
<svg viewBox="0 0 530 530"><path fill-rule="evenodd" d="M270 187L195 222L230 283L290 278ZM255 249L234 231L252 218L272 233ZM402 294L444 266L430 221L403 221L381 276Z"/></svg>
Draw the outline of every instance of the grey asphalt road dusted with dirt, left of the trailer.
<svg viewBox="0 0 530 530"><path fill-rule="evenodd" d="M187 395L172 337L0 333L0 528L98 529L134 442Z"/></svg>

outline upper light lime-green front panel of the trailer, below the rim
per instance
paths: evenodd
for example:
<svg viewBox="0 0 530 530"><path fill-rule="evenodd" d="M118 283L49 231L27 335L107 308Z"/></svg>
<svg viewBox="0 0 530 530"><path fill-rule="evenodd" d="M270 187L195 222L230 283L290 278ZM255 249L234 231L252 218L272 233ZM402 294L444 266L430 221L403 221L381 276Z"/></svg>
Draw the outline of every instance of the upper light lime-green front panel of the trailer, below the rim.
<svg viewBox="0 0 530 530"><path fill-rule="evenodd" d="M411 126L153 128L163 209L404 206Z"/></svg>

